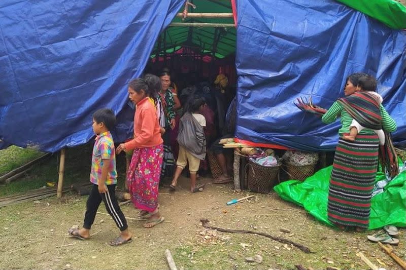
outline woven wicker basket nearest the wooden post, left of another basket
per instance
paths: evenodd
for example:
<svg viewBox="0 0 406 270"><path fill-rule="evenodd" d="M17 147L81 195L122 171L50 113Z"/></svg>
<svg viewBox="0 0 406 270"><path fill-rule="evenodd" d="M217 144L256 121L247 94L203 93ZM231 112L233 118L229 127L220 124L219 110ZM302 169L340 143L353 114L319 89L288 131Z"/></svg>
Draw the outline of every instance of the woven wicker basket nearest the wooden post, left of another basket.
<svg viewBox="0 0 406 270"><path fill-rule="evenodd" d="M248 162L248 189L253 192L267 194L272 190L277 180L279 182L279 169L281 164L275 167L264 167Z"/></svg>

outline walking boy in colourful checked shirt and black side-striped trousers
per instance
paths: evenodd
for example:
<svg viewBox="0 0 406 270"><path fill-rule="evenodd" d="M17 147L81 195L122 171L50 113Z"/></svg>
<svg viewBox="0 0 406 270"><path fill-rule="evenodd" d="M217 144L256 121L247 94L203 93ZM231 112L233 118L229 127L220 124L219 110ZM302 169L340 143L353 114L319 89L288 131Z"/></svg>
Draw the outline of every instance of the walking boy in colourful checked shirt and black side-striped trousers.
<svg viewBox="0 0 406 270"><path fill-rule="evenodd" d="M86 203L83 228L70 228L69 235L80 240L90 237L90 228L96 217L97 209L104 202L107 212L111 215L120 236L110 241L110 245L119 246L130 243L132 235L128 232L127 221L118 205L115 189L117 185L116 152L110 130L114 127L116 117L110 109L99 109L93 114L93 131L97 135L93 153L90 182L93 183L90 196Z"/></svg>

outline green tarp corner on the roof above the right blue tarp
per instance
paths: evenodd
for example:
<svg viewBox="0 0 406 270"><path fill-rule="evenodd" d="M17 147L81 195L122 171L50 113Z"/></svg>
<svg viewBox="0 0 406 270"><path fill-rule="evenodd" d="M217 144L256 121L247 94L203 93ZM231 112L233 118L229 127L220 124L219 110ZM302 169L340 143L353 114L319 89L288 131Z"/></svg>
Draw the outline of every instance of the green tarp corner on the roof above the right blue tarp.
<svg viewBox="0 0 406 270"><path fill-rule="evenodd" d="M406 29L406 7L393 0L336 0L393 29Z"/></svg>

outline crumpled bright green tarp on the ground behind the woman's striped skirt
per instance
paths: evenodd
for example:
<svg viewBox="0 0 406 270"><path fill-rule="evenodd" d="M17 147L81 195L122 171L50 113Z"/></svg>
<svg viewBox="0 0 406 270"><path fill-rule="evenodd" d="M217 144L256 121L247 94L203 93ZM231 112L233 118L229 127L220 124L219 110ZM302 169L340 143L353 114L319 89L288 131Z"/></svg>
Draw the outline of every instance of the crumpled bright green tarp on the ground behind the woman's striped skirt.
<svg viewBox="0 0 406 270"><path fill-rule="evenodd" d="M289 180L274 187L277 194L286 201L295 203L312 214L319 221L333 226L327 219L328 184L332 166L324 168L304 182ZM377 181L385 179L377 174ZM390 181L381 194L371 200L371 214L368 229L385 225L406 227L406 171Z"/></svg>

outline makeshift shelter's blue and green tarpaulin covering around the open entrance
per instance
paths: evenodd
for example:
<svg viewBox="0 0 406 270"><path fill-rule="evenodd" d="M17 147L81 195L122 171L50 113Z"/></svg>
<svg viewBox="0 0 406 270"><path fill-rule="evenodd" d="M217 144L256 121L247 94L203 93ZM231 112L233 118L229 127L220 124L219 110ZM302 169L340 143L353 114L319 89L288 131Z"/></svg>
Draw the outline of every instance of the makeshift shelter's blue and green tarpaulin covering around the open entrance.
<svg viewBox="0 0 406 270"><path fill-rule="evenodd" d="M390 28L406 28L404 7L375 0L379 9L371 14L369 8L353 9L371 1L358 1L353 8L341 2L346 5L333 0L231 1L237 27L227 27L214 54L226 56L236 38L236 137L303 150L333 149L338 124L322 126L295 109L293 101L312 95L328 107L341 95L346 75L364 71L377 76L384 105L398 124L394 139L404 142L406 35ZM194 3L210 12L231 6L222 0ZM184 4L2 1L0 147L57 151L83 144L93 136L91 114L101 107L118 114L116 141L127 138L132 117L126 85L141 75L154 51L160 52L157 38ZM213 48L217 28L193 29L193 44ZM190 27L173 31L168 36L174 46L182 46L191 32Z"/></svg>

